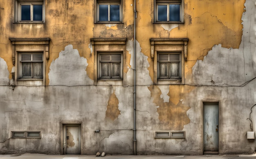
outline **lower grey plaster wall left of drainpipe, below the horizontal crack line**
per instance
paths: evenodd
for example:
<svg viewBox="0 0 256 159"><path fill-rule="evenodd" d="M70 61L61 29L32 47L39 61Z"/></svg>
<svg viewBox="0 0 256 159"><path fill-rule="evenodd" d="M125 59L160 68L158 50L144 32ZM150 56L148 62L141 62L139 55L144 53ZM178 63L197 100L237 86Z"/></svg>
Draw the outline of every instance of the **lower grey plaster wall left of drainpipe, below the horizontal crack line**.
<svg viewBox="0 0 256 159"><path fill-rule="evenodd" d="M132 154L132 87L115 86L19 86L1 87L0 153L62 154L62 124L81 124L81 154L98 150L111 154ZM119 100L116 120L106 118L111 92ZM126 91L126 96L122 92ZM43 94L42 94L43 92ZM131 93L128 93L131 92ZM13 100L15 99L15 100ZM100 130L98 134L94 131ZM16 139L10 131L41 131L41 139Z"/></svg>

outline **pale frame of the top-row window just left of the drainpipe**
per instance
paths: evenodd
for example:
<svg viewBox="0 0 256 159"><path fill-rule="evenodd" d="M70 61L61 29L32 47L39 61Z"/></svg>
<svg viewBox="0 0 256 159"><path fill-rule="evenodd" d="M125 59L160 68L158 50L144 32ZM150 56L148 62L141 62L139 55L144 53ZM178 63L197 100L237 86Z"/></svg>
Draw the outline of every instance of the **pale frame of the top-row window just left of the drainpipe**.
<svg viewBox="0 0 256 159"><path fill-rule="evenodd" d="M97 16L95 18L95 23L121 23L123 19L122 12L122 1L123 0L109 0L108 2L104 2L102 0L94 0L96 8L94 8L94 13ZM99 5L108 5L108 21L100 21L99 20ZM110 21L110 5L119 5L119 21Z"/></svg>

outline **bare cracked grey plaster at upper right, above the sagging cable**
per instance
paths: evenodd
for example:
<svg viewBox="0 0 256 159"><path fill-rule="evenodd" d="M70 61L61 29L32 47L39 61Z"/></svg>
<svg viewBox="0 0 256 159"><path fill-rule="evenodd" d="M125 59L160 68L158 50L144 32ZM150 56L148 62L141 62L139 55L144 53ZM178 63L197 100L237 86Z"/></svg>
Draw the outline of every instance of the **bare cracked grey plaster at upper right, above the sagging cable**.
<svg viewBox="0 0 256 159"><path fill-rule="evenodd" d="M192 68L194 85L240 86L256 77L254 18L251 18L255 5L247 0L245 6L239 48L213 46L204 60L198 60Z"/></svg>

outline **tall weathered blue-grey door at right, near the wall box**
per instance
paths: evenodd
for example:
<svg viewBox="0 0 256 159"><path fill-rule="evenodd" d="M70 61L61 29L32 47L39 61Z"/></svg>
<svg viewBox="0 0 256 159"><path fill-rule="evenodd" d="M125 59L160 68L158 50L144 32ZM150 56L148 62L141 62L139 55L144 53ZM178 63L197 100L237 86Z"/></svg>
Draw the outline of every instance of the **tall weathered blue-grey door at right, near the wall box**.
<svg viewBox="0 0 256 159"><path fill-rule="evenodd" d="M219 105L204 104L204 151L219 149Z"/></svg>

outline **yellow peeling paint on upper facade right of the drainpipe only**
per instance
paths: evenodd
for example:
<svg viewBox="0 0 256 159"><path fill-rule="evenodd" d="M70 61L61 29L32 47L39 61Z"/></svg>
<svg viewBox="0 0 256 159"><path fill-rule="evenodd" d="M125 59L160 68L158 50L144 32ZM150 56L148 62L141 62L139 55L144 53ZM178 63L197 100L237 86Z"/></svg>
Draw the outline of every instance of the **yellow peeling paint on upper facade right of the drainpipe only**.
<svg viewBox="0 0 256 159"><path fill-rule="evenodd" d="M216 44L225 48L238 48L242 38L241 17L245 0L184 0L184 24L165 30L162 24L153 24L153 1L137 4L137 41L141 52L150 57L150 38L188 38L188 58L185 62L185 78L191 77L191 68L197 60L203 60ZM148 12L152 12L149 14ZM151 21L151 22L150 22ZM150 22L150 23L149 23ZM168 24L167 24L168 25ZM173 24L170 24L170 27ZM168 26L164 26L165 28ZM153 63L148 58L150 77L153 79Z"/></svg>

